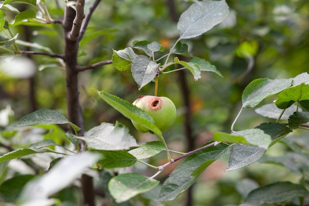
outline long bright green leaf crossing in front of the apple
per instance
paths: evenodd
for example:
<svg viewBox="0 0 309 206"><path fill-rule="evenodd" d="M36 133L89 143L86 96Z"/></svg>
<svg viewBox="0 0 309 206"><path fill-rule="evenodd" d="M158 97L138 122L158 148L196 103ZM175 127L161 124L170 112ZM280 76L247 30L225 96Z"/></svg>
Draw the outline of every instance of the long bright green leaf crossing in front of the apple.
<svg viewBox="0 0 309 206"><path fill-rule="evenodd" d="M162 136L162 132L154 124L153 118L150 117L145 111L113 94L107 93L105 91L95 91L104 101L114 107L114 109L120 112L124 117L136 122L137 124L140 124L141 126L148 128L156 135Z"/></svg>

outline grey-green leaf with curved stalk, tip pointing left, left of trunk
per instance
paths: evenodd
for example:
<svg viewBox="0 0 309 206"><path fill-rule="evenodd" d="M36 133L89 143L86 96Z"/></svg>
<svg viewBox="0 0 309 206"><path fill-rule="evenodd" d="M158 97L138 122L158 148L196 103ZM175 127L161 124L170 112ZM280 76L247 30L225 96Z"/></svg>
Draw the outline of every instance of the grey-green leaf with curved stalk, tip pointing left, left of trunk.
<svg viewBox="0 0 309 206"><path fill-rule="evenodd" d="M36 124L70 124L76 131L80 128L67 120L64 115L55 110L40 109L20 118L16 126L29 126Z"/></svg>

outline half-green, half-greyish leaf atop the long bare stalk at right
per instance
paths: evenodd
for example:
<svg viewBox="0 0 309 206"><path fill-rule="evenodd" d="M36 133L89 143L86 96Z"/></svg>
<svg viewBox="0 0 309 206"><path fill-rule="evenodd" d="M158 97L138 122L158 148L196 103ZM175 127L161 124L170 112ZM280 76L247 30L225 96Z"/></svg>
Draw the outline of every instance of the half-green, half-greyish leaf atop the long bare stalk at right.
<svg viewBox="0 0 309 206"><path fill-rule="evenodd" d="M242 93L242 107L253 108L260 104L263 99L289 87L291 83L292 79L256 79L250 82L244 89Z"/></svg>

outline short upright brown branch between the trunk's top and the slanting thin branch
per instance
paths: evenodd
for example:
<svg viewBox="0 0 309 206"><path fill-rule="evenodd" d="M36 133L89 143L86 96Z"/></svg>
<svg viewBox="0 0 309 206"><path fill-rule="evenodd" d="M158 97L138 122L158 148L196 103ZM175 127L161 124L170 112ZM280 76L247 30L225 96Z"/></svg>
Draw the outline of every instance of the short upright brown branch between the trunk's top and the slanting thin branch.
<svg viewBox="0 0 309 206"><path fill-rule="evenodd" d="M81 27L82 20L85 18L84 15L84 0L77 0L75 7L76 7L76 16L73 21L73 26L71 32L68 34L68 39L71 41L77 41L79 36L79 31Z"/></svg>

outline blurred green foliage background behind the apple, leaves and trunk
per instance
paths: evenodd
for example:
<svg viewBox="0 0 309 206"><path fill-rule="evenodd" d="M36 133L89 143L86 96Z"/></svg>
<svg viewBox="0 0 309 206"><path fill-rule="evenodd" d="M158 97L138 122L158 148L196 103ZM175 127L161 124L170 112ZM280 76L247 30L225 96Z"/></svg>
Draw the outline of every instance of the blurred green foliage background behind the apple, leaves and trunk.
<svg viewBox="0 0 309 206"><path fill-rule="evenodd" d="M63 16L63 2L45 3L52 18ZM91 3L92 0L86 1L85 12ZM157 58L164 55L179 37L179 15L191 3L186 0L100 2L80 42L78 64L110 60L113 49L132 47L135 40L158 41L165 47L165 52L156 54ZM189 71L160 75L158 96L169 97L177 107L176 123L163 134L172 150L187 152L211 140L215 131L230 132L241 107L242 91L254 79L293 78L309 70L308 0L227 0L227 3L230 14L223 23L202 36L182 41L189 45L194 56L215 65L224 78L202 72L202 78L195 82ZM6 20L11 21L15 14L7 12L6 15ZM23 41L36 42L54 53L63 53L61 25L16 25L11 32L19 33L19 39ZM27 46L20 48L29 49ZM14 136L9 133L12 131L10 126L35 110L48 108L66 114L65 72L61 60L39 55L10 59L12 53L3 49L0 49L0 55L2 136L3 132ZM105 90L133 102L139 95L154 95L154 82L138 90L130 71L120 72L113 65L106 65L79 73L79 84L86 130L102 122L115 124L118 121L130 129L138 142L157 140L151 134L139 133L130 120L92 91L92 88ZM274 99L270 97L262 103ZM244 109L234 129L252 128L270 121L274 120L259 116L254 109ZM295 132L293 135L302 137L303 134ZM28 143L24 141L20 147ZM284 145L278 144L268 155L280 155L286 150ZM154 165L166 162L164 154L160 155L162 159L151 160ZM160 178L166 178L176 165L167 167ZM227 167L227 160L215 162L201 174L192 191L162 204L235 206L247 192L244 185L300 178L299 174L280 165L257 163L225 172ZM138 165L137 169L147 172ZM143 202L143 198L139 198Z"/></svg>

